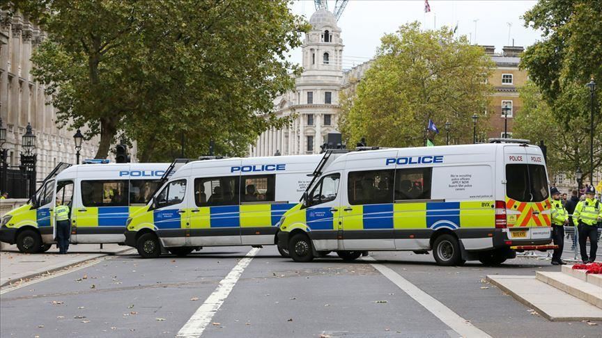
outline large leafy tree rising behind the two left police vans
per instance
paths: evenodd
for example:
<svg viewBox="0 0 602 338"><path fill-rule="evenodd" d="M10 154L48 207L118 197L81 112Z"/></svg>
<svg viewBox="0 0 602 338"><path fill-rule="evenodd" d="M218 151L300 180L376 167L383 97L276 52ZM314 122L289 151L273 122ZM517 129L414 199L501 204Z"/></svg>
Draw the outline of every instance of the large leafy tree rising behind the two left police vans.
<svg viewBox="0 0 602 338"><path fill-rule="evenodd" d="M142 161L166 160L185 134L188 156L210 139L239 153L268 127L272 99L294 86L286 61L307 24L288 1L46 1L49 33L33 57L59 121L120 135ZM265 114L267 118L260 116Z"/></svg>

